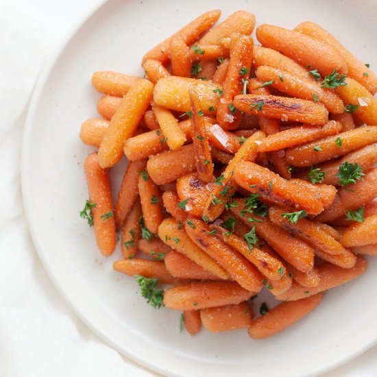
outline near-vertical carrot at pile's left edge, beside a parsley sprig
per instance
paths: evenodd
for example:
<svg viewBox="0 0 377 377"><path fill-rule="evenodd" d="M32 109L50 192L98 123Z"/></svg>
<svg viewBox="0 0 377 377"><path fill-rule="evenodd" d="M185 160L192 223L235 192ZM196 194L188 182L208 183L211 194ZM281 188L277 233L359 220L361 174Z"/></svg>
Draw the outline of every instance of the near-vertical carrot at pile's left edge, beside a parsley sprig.
<svg viewBox="0 0 377 377"><path fill-rule="evenodd" d="M84 170L88 184L89 202L95 204L91 208L91 212L97 246L104 256L109 256L117 245L109 171L99 166L97 153L90 154L86 158Z"/></svg>

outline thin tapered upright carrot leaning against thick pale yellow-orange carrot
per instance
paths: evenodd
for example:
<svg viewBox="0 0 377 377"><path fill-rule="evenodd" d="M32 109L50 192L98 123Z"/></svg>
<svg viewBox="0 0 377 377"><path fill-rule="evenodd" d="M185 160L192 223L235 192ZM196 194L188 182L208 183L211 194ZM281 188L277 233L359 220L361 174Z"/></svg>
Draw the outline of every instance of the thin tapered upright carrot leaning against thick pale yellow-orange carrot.
<svg viewBox="0 0 377 377"><path fill-rule="evenodd" d="M209 183L213 178L213 163L210 155L210 146L208 145L202 106L200 105L199 97L197 97L197 94L193 90L189 90L189 96L196 169L199 178L203 182Z"/></svg>

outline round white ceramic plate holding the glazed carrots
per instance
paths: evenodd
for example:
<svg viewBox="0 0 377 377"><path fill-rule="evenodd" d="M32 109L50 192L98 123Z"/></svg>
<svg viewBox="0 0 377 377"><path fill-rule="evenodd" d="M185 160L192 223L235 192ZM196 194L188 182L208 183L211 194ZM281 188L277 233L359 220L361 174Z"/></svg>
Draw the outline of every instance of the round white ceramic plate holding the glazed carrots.
<svg viewBox="0 0 377 377"><path fill-rule="evenodd" d="M93 71L142 75L143 53L205 10L223 17L254 12L258 23L294 27L312 20L377 67L376 7L352 1L108 1L63 43L40 77L23 143L23 197L40 258L77 315L102 339L139 363L170 376L317 375L377 340L377 260L360 279L329 292L300 324L254 341L245 330L195 337L179 331L179 313L154 310L132 278L112 270L93 229L78 212L87 198L80 124L96 117ZM124 164L113 171L121 175Z"/></svg>

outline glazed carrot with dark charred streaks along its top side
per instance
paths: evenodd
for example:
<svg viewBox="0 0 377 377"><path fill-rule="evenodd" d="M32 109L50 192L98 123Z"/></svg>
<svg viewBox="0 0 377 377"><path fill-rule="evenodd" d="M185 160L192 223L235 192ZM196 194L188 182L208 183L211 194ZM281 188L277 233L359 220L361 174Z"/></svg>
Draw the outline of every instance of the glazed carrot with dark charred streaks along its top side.
<svg viewBox="0 0 377 377"><path fill-rule="evenodd" d="M250 94L237 95L233 104L246 114L263 115L267 118L311 125L324 125L328 121L328 110L324 105L306 99Z"/></svg>

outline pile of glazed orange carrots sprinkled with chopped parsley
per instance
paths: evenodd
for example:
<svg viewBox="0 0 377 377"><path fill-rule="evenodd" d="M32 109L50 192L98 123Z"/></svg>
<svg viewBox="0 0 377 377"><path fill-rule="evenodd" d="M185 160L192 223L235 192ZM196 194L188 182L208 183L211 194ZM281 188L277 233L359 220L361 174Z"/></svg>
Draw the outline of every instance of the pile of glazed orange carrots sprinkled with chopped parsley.
<svg viewBox="0 0 377 377"><path fill-rule="evenodd" d="M206 12L148 51L145 77L100 71L80 137L81 216L114 269L194 335L275 335L377 254L377 77L319 25ZM115 205L109 169L128 165ZM169 287L162 288L162 284ZM262 289L276 297L252 313Z"/></svg>

